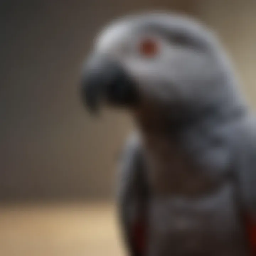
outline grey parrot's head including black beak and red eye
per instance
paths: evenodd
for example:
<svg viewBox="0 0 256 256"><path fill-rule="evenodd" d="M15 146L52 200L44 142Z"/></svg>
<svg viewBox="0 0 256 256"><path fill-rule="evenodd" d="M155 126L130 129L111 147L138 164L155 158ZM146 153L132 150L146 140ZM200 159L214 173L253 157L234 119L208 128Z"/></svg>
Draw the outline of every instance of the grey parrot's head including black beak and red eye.
<svg viewBox="0 0 256 256"><path fill-rule="evenodd" d="M82 100L91 111L124 107L142 126L167 128L167 122L233 108L233 77L215 36L198 21L130 15L96 37L83 69Z"/></svg>

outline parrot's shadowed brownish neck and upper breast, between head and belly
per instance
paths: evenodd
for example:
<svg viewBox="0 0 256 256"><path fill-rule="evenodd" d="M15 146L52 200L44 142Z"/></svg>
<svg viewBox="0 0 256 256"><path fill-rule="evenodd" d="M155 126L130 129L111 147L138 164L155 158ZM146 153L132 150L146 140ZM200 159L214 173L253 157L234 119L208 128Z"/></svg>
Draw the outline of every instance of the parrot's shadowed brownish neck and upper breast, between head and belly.
<svg viewBox="0 0 256 256"><path fill-rule="evenodd" d="M191 196L216 189L229 171L226 127L245 113L242 107L223 111L213 107L191 115L191 119L176 119L171 125L160 115L146 119L148 123L142 125L140 132L155 193ZM221 157L216 159L219 152Z"/></svg>

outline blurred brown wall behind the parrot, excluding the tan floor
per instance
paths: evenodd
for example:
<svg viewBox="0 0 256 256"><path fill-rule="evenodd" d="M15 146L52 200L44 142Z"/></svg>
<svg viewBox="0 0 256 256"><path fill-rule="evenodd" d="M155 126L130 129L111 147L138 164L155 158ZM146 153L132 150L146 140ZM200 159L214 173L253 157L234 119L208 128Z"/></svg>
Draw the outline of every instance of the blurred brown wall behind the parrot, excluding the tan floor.
<svg viewBox="0 0 256 256"><path fill-rule="evenodd" d="M211 25L254 102L255 1L1 1L1 199L112 197L132 123L117 112L91 118L79 72L106 22L147 9L194 13Z"/></svg>

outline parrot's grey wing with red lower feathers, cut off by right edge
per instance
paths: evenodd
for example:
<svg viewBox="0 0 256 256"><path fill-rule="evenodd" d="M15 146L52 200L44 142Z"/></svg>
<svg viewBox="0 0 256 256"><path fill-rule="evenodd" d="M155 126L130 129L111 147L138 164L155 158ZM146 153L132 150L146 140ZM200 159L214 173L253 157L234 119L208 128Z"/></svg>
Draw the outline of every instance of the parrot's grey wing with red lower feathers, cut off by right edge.
<svg viewBox="0 0 256 256"><path fill-rule="evenodd" d="M235 175L247 241L256 255L256 120L247 116L236 133Z"/></svg>

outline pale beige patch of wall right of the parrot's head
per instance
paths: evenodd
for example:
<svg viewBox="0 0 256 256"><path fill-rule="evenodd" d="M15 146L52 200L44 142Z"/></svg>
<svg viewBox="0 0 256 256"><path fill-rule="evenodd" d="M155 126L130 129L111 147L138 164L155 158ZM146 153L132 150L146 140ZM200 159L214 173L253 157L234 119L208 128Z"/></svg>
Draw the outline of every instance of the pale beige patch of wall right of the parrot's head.
<svg viewBox="0 0 256 256"><path fill-rule="evenodd" d="M252 108L256 107L256 1L199 0L197 15L218 34Z"/></svg>

